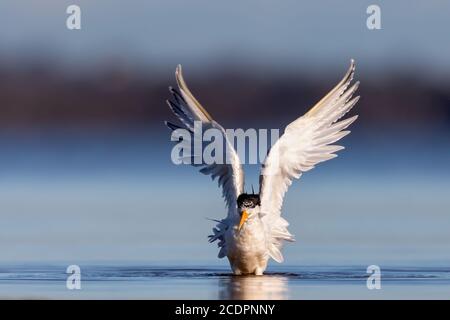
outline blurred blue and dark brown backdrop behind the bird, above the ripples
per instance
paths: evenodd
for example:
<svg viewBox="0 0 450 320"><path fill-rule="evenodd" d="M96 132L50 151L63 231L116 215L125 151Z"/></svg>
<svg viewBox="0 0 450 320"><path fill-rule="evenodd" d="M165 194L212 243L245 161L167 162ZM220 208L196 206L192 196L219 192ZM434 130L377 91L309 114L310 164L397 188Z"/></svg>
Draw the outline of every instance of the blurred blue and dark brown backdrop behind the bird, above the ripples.
<svg viewBox="0 0 450 320"><path fill-rule="evenodd" d="M170 159L176 65L225 128L283 129L354 58L360 118L290 188L286 263L448 265L450 3L376 1L368 30L373 3L2 0L0 263L226 265L220 190Z"/></svg>

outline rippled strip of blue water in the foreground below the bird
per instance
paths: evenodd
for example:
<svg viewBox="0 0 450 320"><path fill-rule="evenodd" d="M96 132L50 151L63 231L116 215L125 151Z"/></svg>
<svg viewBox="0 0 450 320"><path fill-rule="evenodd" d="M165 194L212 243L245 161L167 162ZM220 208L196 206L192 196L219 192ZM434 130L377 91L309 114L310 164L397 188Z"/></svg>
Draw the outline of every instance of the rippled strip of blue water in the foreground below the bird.
<svg viewBox="0 0 450 320"><path fill-rule="evenodd" d="M10 299L450 299L450 268L382 267L381 289L366 267L282 266L264 276L227 268L81 267L81 289L66 288L66 267L0 267L0 297Z"/></svg>

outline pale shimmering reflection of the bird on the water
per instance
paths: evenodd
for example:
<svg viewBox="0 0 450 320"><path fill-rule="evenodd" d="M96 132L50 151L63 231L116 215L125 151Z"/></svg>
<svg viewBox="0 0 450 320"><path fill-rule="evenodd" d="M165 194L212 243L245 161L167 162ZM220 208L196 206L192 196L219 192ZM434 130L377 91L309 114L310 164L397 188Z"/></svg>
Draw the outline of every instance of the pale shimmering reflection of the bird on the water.
<svg viewBox="0 0 450 320"><path fill-rule="evenodd" d="M230 276L221 278L219 280L219 299L287 299L287 280L287 277L282 275Z"/></svg>

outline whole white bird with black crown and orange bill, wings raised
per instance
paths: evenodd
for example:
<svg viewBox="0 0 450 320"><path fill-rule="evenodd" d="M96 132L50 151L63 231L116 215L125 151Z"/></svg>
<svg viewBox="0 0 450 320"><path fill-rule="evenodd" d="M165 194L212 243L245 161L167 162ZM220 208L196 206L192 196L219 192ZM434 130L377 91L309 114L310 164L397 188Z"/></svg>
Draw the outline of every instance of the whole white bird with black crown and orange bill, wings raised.
<svg viewBox="0 0 450 320"><path fill-rule="evenodd" d="M259 198L238 206L238 198L244 193L244 172L233 145L226 139L224 128L219 125L189 91L177 67L176 79L180 93L170 88L173 100L169 107L184 128L193 133L194 121L201 121L204 128L220 130L229 152L224 164L194 164L197 154L191 155L200 172L218 178L228 207L225 219L217 221L210 242L219 241L219 258L225 256L235 274L261 275L269 258L283 262L281 248L284 241L294 241L287 230L288 222L281 217L284 195L292 184L320 162L335 158L335 152L344 147L334 145L350 131L345 130L357 116L339 121L356 104L352 98L359 82L352 86L355 71L351 61L344 78L305 115L290 123L280 139L272 146L261 169ZM172 130L181 128L166 122ZM251 196L250 196L251 197ZM259 201L258 201L259 200Z"/></svg>

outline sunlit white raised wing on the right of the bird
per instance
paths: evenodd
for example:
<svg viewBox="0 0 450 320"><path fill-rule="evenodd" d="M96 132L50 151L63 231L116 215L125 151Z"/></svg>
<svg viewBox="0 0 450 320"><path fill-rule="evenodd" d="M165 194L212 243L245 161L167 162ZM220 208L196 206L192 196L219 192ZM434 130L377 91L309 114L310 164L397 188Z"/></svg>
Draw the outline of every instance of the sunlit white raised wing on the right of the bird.
<svg viewBox="0 0 450 320"><path fill-rule="evenodd" d="M278 250L280 240L290 240L287 222L280 217L284 195L294 178L311 170L320 162L336 157L343 149L334 142L346 136L345 129L357 116L338 121L356 104L352 99L359 82L350 86L355 71L351 61L344 78L311 110L290 123L284 134L271 148L261 169L260 197L263 220L270 226L274 248L270 255L282 260Z"/></svg>

